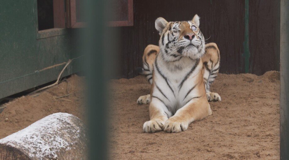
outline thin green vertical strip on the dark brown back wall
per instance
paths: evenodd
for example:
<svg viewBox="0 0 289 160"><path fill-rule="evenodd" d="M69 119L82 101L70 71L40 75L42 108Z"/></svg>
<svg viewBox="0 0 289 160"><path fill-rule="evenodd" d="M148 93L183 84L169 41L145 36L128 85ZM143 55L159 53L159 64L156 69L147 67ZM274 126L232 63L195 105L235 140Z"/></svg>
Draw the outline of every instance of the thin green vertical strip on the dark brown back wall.
<svg viewBox="0 0 289 160"><path fill-rule="evenodd" d="M245 39L244 39L245 73L249 73L249 0L245 0Z"/></svg>

